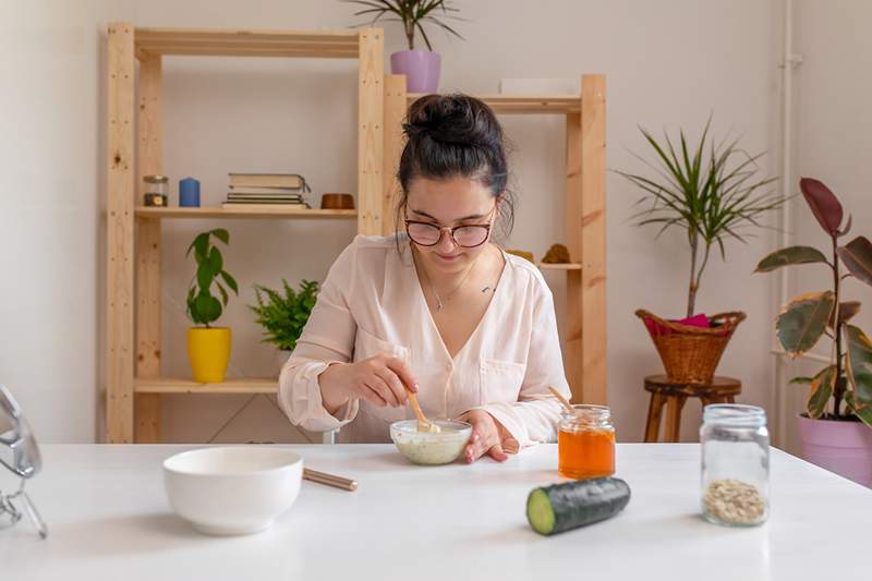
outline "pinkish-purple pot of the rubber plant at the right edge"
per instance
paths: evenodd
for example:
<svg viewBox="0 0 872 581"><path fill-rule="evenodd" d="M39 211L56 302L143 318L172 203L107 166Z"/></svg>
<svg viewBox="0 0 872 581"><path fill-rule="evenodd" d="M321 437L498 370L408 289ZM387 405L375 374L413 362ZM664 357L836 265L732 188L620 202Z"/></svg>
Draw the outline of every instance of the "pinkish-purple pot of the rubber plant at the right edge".
<svg viewBox="0 0 872 581"><path fill-rule="evenodd" d="M799 416L802 458L872 488L872 428L862 422Z"/></svg>

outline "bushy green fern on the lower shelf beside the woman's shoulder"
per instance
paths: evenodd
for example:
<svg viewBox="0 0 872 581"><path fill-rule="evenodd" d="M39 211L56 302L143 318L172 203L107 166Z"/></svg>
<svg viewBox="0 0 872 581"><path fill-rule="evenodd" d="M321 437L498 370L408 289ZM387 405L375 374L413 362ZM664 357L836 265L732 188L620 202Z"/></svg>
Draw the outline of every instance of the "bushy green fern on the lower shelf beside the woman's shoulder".
<svg viewBox="0 0 872 581"><path fill-rule="evenodd" d="M263 285L254 286L256 304L249 308L256 315L255 320L264 328L263 342L275 344L283 360L296 347L312 308L318 296L318 283L314 280L300 282L300 291L294 291L287 280L281 279L281 290Z"/></svg>

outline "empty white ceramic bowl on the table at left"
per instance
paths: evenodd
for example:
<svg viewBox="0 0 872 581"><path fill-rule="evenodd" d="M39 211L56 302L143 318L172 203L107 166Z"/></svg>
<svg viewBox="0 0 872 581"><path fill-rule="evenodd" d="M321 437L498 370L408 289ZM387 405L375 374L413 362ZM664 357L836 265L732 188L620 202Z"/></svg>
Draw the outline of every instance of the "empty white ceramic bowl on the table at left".
<svg viewBox="0 0 872 581"><path fill-rule="evenodd" d="M164 461L173 510L206 534L250 534L268 529L291 508L303 458L274 446L202 448Z"/></svg>

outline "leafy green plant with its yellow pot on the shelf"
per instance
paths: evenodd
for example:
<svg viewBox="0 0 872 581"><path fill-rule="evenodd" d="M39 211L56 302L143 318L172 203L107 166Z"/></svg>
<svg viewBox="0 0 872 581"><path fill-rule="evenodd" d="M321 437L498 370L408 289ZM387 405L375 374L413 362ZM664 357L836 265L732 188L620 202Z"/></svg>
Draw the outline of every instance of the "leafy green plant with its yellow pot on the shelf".
<svg viewBox="0 0 872 581"><path fill-rule="evenodd" d="M198 325L187 329L187 358L194 380L202 384L217 384L225 380L227 363L230 360L231 334L228 327L213 327L227 306L228 292L221 285L223 280L234 294L239 294L235 279L223 269L223 256L211 239L230 243L230 234L225 229L208 230L197 234L187 247L185 256L194 251L197 269L187 289L187 316ZM213 286L218 289L220 300L213 296Z"/></svg>

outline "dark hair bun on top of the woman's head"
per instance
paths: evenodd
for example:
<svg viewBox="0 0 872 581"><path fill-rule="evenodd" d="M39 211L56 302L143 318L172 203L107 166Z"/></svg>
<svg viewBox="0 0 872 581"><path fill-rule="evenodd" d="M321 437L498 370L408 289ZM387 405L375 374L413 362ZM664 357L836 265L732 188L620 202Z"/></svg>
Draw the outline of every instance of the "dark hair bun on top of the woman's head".
<svg viewBox="0 0 872 581"><path fill-rule="evenodd" d="M403 132L410 140L446 145L501 147L502 129L494 111L467 95L427 95L409 108Z"/></svg>

